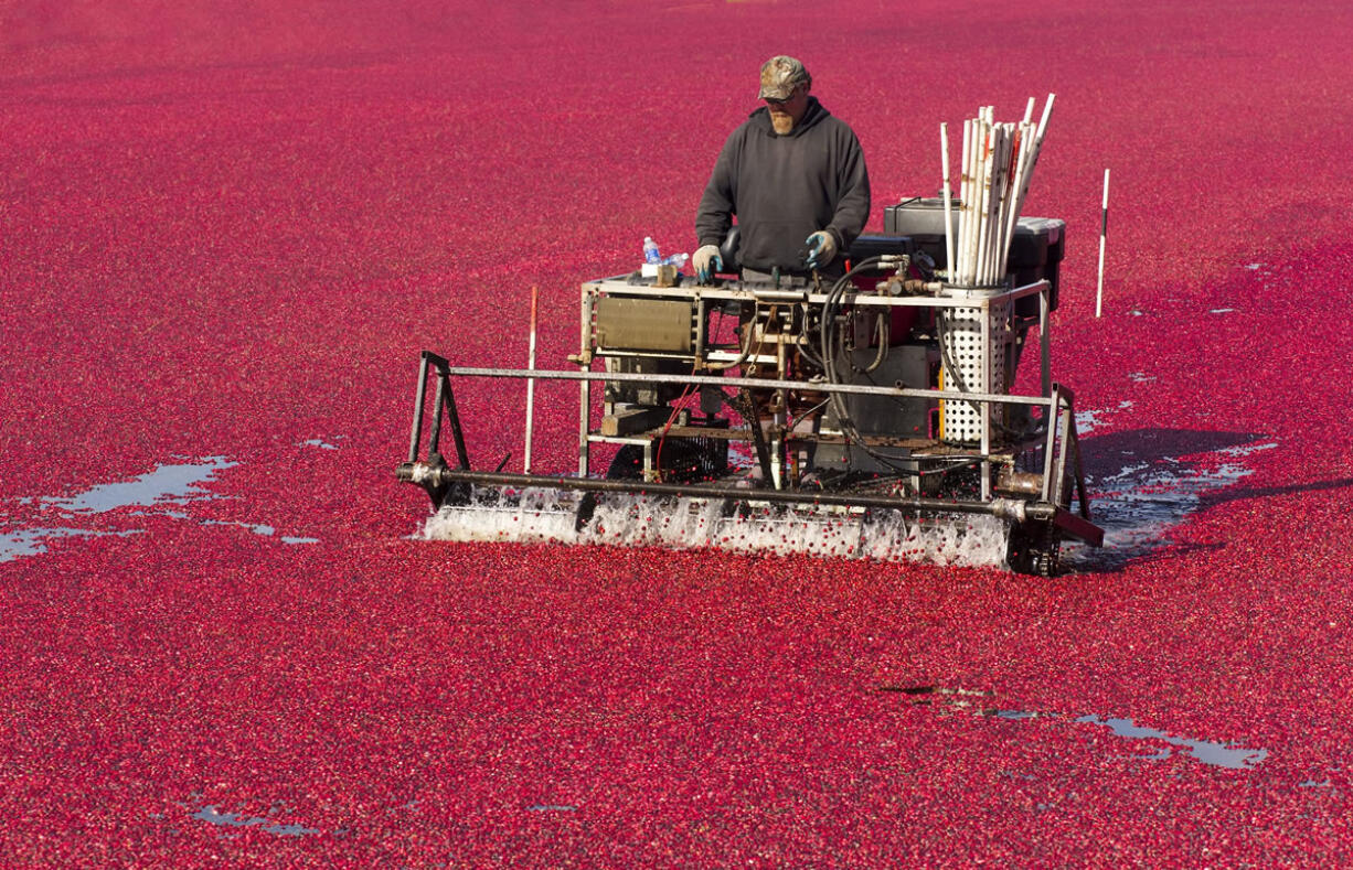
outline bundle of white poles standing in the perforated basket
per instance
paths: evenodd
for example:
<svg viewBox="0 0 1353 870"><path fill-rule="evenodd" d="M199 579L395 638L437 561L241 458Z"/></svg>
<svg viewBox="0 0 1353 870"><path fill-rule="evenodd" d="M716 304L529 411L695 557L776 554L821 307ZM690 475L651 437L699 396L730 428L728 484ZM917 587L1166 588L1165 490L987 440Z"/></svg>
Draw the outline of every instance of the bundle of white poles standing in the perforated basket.
<svg viewBox="0 0 1353 870"><path fill-rule="evenodd" d="M1047 119L1053 113L1047 95L1043 118L1035 126L1034 97L1020 123L996 123L993 108L984 105L977 118L963 122L962 174L958 197L958 238L950 215L948 128L940 124L940 157L944 162L944 247L950 284L993 286L1005 280L1011 239L1019 222L1034 165L1043 147Z"/></svg>

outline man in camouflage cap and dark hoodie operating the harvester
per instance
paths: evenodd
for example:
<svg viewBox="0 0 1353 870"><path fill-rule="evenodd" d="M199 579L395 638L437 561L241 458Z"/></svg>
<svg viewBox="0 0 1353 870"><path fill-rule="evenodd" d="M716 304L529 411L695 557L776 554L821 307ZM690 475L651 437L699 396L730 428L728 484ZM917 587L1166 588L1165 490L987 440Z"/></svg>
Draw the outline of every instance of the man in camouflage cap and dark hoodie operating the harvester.
<svg viewBox="0 0 1353 870"><path fill-rule="evenodd" d="M843 254L869 219L869 173L854 131L812 86L792 57L762 65L766 105L728 136L695 212L701 284L724 266L718 246L735 215L746 270L842 274Z"/></svg>

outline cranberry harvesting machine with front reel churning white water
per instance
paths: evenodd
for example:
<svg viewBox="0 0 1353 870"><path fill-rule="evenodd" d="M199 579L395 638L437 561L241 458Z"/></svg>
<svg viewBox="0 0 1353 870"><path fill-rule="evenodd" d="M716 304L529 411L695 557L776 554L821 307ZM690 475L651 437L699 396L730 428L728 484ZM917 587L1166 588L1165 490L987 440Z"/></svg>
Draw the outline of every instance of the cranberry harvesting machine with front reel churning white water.
<svg viewBox="0 0 1353 870"><path fill-rule="evenodd" d="M740 278L731 239L710 285L667 267L589 281L564 370L423 351L398 477L444 538L947 561L935 540L986 536L996 561L1051 575L1063 539L1103 543L1074 396L1050 369L1065 224L1019 219L1004 280L959 286L944 220L936 200L888 208L839 278ZM529 471L529 413L522 473L471 467L465 378L576 381L576 469Z"/></svg>

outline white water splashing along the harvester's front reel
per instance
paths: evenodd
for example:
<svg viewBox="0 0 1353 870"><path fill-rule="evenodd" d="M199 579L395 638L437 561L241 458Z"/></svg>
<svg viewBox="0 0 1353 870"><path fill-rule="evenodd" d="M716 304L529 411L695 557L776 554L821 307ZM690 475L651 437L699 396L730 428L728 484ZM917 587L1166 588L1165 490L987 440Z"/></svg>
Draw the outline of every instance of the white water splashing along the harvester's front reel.
<svg viewBox="0 0 1353 870"><path fill-rule="evenodd" d="M919 519L900 511L848 508L754 509L724 516L706 498L660 498L605 493L582 530L574 493L526 489L511 504L494 504L476 490L471 504L444 507L430 516L423 536L434 540L556 542L687 550L717 547L733 553L824 558L1004 565L1009 527L985 515Z"/></svg>

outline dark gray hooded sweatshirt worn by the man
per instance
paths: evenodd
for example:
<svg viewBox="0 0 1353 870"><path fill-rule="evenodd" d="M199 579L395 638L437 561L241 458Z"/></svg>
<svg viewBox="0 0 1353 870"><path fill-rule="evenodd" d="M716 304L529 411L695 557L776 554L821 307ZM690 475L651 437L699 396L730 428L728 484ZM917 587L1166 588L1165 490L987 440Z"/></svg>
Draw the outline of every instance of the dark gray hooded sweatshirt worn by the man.
<svg viewBox="0 0 1353 870"><path fill-rule="evenodd" d="M760 272L804 269L806 239L836 236L843 257L869 220L869 172L859 139L808 99L802 120L783 136L762 107L728 136L695 212L700 245L720 245L737 216L737 259Z"/></svg>

